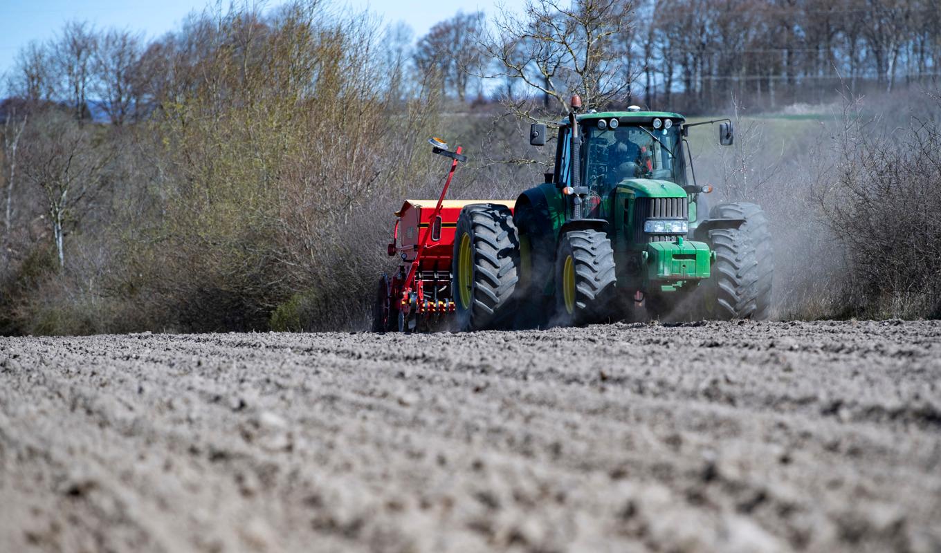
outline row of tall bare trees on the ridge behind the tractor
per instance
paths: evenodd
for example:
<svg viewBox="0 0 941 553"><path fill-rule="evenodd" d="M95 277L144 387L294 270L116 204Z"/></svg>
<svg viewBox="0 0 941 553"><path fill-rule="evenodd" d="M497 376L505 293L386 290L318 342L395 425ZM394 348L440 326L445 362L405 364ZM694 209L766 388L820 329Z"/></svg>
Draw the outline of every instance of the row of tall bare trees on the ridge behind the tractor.
<svg viewBox="0 0 941 553"><path fill-rule="evenodd" d="M573 8L535 0L523 17L458 14L418 41L420 68L437 67L440 87L464 102L536 94L548 104L546 69L558 61L547 38L583 49L601 31L598 71L619 72L616 100L708 113L734 96L751 108L832 101L933 85L941 78L938 0L582 0ZM604 14L593 24L582 14ZM574 24L573 24L574 23ZM603 24L601 24L603 23ZM566 28L571 27L571 28ZM581 27L581 28L575 28ZM610 39L604 33L613 33ZM457 55L449 54L457 53ZM520 56L520 54L522 54ZM542 63L540 63L540 57ZM522 63L519 85L507 61ZM496 86L478 77L510 77ZM554 100L554 99L552 99Z"/></svg>

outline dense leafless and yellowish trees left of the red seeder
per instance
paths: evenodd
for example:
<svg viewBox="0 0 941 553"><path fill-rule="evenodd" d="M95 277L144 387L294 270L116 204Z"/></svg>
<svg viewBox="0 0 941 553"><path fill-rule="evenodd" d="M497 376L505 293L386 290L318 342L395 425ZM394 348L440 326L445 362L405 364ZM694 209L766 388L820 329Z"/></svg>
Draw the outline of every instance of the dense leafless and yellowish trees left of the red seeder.
<svg viewBox="0 0 941 553"><path fill-rule="evenodd" d="M356 316L383 261L370 213L428 179L439 104L379 22L322 8L24 47L0 104L0 331Z"/></svg>

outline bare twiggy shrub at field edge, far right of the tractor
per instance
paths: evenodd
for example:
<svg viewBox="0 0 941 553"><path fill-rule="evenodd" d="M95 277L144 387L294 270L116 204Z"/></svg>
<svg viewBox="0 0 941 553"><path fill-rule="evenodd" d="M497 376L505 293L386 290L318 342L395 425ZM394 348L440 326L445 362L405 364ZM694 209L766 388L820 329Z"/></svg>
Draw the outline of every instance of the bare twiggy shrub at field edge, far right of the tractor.
<svg viewBox="0 0 941 553"><path fill-rule="evenodd" d="M823 207L849 262L847 302L859 315L941 317L937 122L925 112L900 127L846 119Z"/></svg>

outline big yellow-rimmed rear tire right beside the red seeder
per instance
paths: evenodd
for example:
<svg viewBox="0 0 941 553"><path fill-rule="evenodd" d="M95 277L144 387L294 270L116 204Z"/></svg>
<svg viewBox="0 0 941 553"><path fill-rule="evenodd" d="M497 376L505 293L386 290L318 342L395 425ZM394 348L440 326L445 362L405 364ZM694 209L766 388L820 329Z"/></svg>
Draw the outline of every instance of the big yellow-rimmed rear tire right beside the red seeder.
<svg viewBox="0 0 941 553"><path fill-rule="evenodd" d="M474 204L461 210L451 270L458 330L499 328L510 321L508 306L519 281L518 267L519 237L513 213L496 204Z"/></svg>

